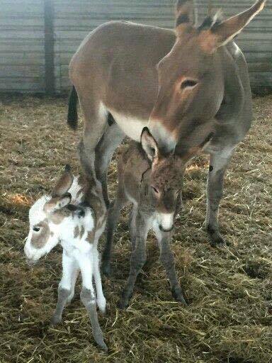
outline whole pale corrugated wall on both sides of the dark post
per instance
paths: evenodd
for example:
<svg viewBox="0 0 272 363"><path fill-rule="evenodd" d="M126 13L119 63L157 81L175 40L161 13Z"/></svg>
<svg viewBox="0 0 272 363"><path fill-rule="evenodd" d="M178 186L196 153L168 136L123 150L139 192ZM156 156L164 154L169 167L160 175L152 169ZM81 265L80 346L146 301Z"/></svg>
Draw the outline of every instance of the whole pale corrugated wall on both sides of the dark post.
<svg viewBox="0 0 272 363"><path fill-rule="evenodd" d="M0 0L0 91L45 91L44 1ZM69 88L69 60L81 40L108 20L174 26L174 0L50 0L54 6L55 89ZM212 0L228 16L244 11L253 0ZM11 4L12 3L12 4ZM200 20L208 0L198 0ZM254 86L272 84L272 4L239 35Z"/></svg>

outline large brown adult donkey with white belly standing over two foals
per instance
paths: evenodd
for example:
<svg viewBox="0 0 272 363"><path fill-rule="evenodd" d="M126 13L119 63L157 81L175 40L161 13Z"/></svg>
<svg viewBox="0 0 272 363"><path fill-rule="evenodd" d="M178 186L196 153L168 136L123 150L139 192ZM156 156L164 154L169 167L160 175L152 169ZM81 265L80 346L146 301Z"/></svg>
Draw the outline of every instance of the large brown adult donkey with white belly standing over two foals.
<svg viewBox="0 0 272 363"><path fill-rule="evenodd" d="M225 21L208 17L196 26L193 1L179 0L175 31L113 21L81 43L69 65L74 87L68 123L77 127L78 95L88 155L83 162L94 167L96 161L107 203L108 164L125 135L140 141L147 125L164 155L183 157L214 133L205 148L210 153L205 225L212 245L224 242L217 220L223 177L251 125L248 69L232 40L265 3L259 0Z"/></svg>

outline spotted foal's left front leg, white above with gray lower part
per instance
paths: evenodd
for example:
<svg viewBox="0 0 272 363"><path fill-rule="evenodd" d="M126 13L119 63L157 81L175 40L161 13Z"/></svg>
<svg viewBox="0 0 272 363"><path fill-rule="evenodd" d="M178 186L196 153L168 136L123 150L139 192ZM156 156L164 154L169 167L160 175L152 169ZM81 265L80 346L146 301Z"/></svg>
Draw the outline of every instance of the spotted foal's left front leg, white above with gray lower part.
<svg viewBox="0 0 272 363"><path fill-rule="evenodd" d="M62 252L62 279L59 284L57 306L52 316L52 324L60 323L62 312L67 302L74 296L74 285L77 281L78 265L74 257L69 257L65 250Z"/></svg>

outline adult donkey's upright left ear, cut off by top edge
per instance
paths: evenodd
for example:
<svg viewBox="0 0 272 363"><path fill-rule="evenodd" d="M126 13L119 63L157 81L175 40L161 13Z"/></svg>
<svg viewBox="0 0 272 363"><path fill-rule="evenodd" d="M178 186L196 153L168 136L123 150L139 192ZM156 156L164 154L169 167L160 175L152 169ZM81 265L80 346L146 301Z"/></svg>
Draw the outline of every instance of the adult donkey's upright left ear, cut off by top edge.
<svg viewBox="0 0 272 363"><path fill-rule="evenodd" d="M178 0L176 3L176 30L181 33L188 26L196 23L196 7L194 0Z"/></svg>

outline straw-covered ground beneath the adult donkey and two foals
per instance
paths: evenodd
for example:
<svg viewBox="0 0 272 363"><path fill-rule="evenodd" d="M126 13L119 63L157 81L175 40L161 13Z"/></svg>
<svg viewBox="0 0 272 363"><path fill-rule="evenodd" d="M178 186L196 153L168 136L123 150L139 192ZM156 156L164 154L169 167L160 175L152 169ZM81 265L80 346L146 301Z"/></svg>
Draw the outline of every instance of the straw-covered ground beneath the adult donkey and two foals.
<svg viewBox="0 0 272 363"><path fill-rule="evenodd" d="M125 311L117 308L128 277L128 210L115 236L108 301L100 317L109 353L94 345L80 284L57 327L50 318L61 277L61 249L31 269L23 256L28 208L50 193L64 164L79 169L81 130L66 125L67 100L0 98L0 362L1 363L268 363L272 362L272 96L254 99L254 126L229 166L220 208L230 247L214 249L205 218L207 157L186 173L185 210L172 248L188 307L176 303L158 262L153 235L148 262ZM111 198L116 164L109 171ZM103 247L103 239L101 240Z"/></svg>

